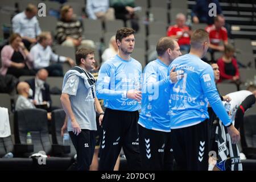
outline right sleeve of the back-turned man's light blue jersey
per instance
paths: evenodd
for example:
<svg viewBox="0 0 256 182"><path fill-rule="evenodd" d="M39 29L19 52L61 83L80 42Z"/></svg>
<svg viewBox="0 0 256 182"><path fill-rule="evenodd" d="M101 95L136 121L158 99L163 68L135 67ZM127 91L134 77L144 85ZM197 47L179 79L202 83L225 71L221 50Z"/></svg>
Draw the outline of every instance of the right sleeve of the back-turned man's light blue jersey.
<svg viewBox="0 0 256 182"><path fill-rule="evenodd" d="M203 89L205 97L208 98L210 105L212 106L214 112L217 114L218 118L221 119L225 126L232 124L232 121L226 113L225 107L221 102L220 95L216 89L214 82L214 74L212 67L205 68L200 74L201 88Z"/></svg>

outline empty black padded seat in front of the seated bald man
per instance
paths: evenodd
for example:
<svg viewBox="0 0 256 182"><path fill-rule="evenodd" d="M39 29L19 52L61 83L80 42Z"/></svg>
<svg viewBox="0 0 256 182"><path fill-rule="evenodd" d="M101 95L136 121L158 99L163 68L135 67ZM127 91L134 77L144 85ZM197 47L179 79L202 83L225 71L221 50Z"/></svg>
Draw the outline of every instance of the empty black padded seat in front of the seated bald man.
<svg viewBox="0 0 256 182"><path fill-rule="evenodd" d="M40 164L39 157L34 157L34 169L65 170L72 164L72 158L61 157L70 152L69 146L51 144L47 125L47 111L43 109L24 109L15 111L14 130L16 143L25 144L27 132L31 133L34 153L44 151L49 157L44 165ZM32 153L26 153L30 156ZM55 157L59 156L59 157Z"/></svg>

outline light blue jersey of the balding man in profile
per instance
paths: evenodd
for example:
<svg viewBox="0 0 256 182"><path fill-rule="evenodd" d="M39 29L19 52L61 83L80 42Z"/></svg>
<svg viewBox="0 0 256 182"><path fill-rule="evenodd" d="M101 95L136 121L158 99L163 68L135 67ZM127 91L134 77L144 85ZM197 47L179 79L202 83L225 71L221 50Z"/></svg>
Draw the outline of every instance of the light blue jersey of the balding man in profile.
<svg viewBox="0 0 256 182"><path fill-rule="evenodd" d="M139 125L150 130L170 132L168 66L159 59L148 63L143 72L142 108Z"/></svg>

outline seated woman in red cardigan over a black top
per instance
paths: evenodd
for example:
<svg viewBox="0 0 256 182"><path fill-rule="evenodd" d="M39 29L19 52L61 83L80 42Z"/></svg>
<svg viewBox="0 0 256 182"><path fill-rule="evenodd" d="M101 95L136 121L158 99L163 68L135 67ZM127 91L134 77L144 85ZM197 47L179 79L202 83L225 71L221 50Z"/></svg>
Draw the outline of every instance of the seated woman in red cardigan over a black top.
<svg viewBox="0 0 256 182"><path fill-rule="evenodd" d="M217 64L220 69L220 80L230 80L238 82L240 73L238 70L237 60L234 58L235 49L231 45L225 45L224 55L218 59Z"/></svg>

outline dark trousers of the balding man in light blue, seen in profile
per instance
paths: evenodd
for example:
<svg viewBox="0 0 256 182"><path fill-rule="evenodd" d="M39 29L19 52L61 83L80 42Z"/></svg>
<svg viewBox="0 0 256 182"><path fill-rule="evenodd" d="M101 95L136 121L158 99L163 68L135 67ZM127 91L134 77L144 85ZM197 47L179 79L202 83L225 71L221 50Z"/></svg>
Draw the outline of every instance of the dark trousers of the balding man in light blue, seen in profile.
<svg viewBox="0 0 256 182"><path fill-rule="evenodd" d="M139 125L142 170L172 170L171 132L149 130Z"/></svg>

